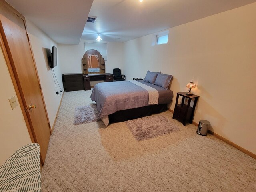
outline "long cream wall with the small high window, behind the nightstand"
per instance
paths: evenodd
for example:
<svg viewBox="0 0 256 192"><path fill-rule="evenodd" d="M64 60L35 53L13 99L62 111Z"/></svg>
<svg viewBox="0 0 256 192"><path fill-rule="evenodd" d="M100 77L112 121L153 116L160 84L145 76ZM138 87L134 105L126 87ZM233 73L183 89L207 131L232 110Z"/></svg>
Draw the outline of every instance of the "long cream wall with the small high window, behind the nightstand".
<svg viewBox="0 0 256 192"><path fill-rule="evenodd" d="M210 130L256 154L256 3L170 28L168 44L151 46L152 38L124 43L127 79L172 74L172 110L193 79L194 122L209 120Z"/></svg>

